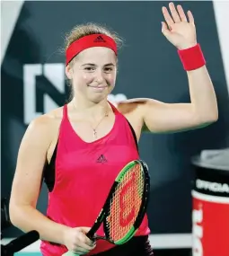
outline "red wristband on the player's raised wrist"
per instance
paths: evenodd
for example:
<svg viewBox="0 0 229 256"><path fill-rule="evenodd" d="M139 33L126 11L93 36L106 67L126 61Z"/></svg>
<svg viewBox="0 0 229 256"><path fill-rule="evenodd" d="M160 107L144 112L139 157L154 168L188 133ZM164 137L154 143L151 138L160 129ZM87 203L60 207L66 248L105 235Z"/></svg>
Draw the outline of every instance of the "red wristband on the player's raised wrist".
<svg viewBox="0 0 229 256"><path fill-rule="evenodd" d="M206 60L199 44L189 49L179 49L178 55L186 71L195 70L206 65Z"/></svg>

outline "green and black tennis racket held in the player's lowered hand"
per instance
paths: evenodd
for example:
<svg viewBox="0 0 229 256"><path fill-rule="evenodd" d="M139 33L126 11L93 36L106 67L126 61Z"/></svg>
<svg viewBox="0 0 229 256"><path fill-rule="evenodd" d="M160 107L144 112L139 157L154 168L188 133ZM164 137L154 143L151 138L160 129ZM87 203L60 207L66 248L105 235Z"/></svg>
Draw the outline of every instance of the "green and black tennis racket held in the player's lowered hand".
<svg viewBox="0 0 229 256"><path fill-rule="evenodd" d="M114 244L127 243L136 234L145 216L150 193L150 177L142 160L128 163L114 181L110 193L91 230L92 241L103 239ZM103 223L105 236L96 235ZM76 256L66 252L65 256Z"/></svg>

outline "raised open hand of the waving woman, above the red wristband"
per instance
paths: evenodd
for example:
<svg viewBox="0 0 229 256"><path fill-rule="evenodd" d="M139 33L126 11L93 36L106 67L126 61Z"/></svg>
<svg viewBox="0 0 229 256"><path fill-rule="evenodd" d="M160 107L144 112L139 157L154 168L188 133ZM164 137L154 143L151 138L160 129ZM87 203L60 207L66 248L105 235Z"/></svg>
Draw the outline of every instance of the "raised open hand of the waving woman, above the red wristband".
<svg viewBox="0 0 229 256"><path fill-rule="evenodd" d="M177 9L173 3L169 4L170 12L163 6L163 17L165 22L162 22L163 35L177 49L187 49L197 44L196 27L194 18L190 11L187 15L183 11L181 5L177 5Z"/></svg>

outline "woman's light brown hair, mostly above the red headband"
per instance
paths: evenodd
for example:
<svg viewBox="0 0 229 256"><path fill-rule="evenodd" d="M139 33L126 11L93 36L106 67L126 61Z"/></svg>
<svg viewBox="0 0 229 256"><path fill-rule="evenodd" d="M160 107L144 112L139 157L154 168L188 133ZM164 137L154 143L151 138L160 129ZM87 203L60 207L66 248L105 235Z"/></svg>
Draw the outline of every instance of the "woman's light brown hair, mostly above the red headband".
<svg viewBox="0 0 229 256"><path fill-rule="evenodd" d="M104 35L110 36L110 38L112 38L116 42L118 49L120 49L123 45L123 40L119 37L117 32L108 29L104 25L89 22L85 24L76 25L71 31L69 31L66 34L65 51L70 44L75 42L75 40L79 40L84 36L92 35L92 34L104 34ZM69 65L72 65L74 63L74 60L75 60L75 57L71 60ZM71 81L68 81L68 84L71 85ZM70 99L72 98L73 98L73 90L71 90L71 93L70 93Z"/></svg>

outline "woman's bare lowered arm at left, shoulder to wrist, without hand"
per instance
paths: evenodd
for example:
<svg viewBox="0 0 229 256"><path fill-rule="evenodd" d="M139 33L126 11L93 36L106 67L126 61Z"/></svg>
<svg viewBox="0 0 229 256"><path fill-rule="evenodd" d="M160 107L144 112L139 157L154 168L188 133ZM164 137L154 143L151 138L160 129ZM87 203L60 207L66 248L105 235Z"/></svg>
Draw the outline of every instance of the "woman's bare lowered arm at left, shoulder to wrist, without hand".
<svg viewBox="0 0 229 256"><path fill-rule="evenodd" d="M37 230L40 238L64 243L65 225L59 225L37 209L40 182L51 143L51 118L41 116L31 122L22 138L10 199L10 218L24 232Z"/></svg>

